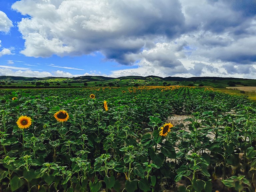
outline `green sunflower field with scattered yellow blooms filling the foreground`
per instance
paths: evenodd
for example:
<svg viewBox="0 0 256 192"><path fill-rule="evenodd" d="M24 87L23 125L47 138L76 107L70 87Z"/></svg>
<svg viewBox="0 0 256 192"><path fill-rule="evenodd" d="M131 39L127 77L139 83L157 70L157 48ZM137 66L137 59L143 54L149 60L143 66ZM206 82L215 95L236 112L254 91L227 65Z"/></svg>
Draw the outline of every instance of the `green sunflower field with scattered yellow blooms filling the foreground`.
<svg viewBox="0 0 256 192"><path fill-rule="evenodd" d="M0 191L254 192L255 111L184 86L1 90Z"/></svg>

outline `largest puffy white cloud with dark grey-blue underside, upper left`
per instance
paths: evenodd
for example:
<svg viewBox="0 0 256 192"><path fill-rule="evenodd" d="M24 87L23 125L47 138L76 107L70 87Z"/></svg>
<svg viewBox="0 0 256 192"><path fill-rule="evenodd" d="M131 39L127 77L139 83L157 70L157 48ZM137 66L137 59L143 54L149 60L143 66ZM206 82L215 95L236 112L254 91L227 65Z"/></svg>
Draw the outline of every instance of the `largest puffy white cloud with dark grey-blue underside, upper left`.
<svg viewBox="0 0 256 192"><path fill-rule="evenodd" d="M125 54L139 53L151 36L177 37L184 23L178 0L21 0L12 8L31 16L18 27L21 53L33 57L101 51L127 64Z"/></svg>

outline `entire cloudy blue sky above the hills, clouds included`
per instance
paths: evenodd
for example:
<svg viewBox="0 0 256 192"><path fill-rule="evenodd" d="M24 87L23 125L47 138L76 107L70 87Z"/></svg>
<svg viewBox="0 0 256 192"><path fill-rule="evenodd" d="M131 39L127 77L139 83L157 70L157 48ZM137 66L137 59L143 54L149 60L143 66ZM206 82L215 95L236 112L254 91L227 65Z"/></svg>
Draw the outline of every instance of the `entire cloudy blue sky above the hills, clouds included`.
<svg viewBox="0 0 256 192"><path fill-rule="evenodd" d="M0 4L0 75L256 79L255 0Z"/></svg>

